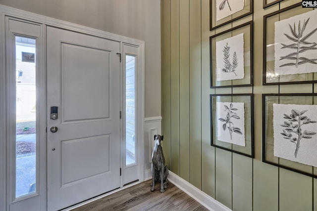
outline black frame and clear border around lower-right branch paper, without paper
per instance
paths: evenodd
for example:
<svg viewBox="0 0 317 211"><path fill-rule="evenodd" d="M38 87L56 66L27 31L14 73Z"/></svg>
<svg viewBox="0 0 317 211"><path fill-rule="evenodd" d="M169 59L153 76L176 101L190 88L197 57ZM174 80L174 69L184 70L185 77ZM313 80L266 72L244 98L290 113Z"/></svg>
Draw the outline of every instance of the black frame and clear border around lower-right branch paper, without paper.
<svg viewBox="0 0 317 211"><path fill-rule="evenodd" d="M273 103L316 105L317 93L262 94L262 162L317 178L316 167L274 156Z"/></svg>

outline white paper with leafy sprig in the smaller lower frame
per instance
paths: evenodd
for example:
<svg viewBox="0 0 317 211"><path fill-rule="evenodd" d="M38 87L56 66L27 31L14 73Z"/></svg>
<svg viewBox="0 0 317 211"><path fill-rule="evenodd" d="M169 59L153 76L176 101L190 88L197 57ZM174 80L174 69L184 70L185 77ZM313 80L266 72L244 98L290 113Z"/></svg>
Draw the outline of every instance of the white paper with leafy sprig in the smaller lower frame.
<svg viewBox="0 0 317 211"><path fill-rule="evenodd" d="M217 139L245 146L244 103L217 102Z"/></svg>

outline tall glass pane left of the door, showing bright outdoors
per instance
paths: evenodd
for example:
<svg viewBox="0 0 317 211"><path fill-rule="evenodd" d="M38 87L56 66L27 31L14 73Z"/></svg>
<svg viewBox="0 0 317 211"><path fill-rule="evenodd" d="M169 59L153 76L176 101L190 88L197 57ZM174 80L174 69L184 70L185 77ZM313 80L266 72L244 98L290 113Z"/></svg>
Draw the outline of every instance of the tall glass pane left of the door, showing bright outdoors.
<svg viewBox="0 0 317 211"><path fill-rule="evenodd" d="M16 198L36 190L35 43L35 39L15 37Z"/></svg>

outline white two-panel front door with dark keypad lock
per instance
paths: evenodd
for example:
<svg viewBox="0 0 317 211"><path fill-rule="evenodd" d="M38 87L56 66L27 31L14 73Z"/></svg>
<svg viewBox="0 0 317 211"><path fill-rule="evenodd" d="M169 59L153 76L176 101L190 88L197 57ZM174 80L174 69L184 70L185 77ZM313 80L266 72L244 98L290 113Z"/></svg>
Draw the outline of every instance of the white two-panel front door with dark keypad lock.
<svg viewBox="0 0 317 211"><path fill-rule="evenodd" d="M117 52L120 42L47 28L48 211L120 187Z"/></svg>

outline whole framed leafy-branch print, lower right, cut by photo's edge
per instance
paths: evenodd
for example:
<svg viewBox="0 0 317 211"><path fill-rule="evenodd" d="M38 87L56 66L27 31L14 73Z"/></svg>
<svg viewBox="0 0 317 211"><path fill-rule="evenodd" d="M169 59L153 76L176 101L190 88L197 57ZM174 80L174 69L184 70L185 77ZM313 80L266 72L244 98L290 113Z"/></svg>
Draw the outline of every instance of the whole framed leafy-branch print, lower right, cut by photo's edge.
<svg viewBox="0 0 317 211"><path fill-rule="evenodd" d="M264 163L317 178L317 94L263 94Z"/></svg>

